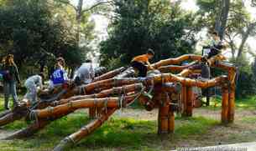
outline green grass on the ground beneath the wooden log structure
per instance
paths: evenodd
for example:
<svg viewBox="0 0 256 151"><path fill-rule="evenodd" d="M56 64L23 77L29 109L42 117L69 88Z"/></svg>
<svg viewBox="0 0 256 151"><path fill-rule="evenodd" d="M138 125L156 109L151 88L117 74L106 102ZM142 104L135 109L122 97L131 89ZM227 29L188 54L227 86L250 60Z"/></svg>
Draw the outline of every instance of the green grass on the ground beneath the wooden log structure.
<svg viewBox="0 0 256 151"><path fill-rule="evenodd" d="M202 133L217 125L217 121L207 118L179 118L175 134L172 137L185 139ZM37 150L49 150L60 142L65 136L76 132L89 119L82 112L69 115L51 123L32 138L4 141L0 143L1 148L16 150L18 147L24 150L36 148ZM12 127L4 127L7 130L19 129L19 122L13 123ZM156 121L134 120L133 118L110 118L102 128L97 129L89 137L82 139L74 150L112 150L112 148L123 148L124 150L158 150L162 139L157 135ZM171 138L165 139L170 141ZM166 148L167 149L167 148Z"/></svg>

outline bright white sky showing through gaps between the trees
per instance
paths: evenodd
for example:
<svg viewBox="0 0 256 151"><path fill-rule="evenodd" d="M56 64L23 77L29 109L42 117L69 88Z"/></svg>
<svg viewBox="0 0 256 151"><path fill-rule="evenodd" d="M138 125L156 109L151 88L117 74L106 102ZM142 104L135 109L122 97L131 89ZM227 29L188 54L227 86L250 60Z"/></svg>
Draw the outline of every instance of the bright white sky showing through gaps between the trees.
<svg viewBox="0 0 256 151"><path fill-rule="evenodd" d="M170 1L176 1L176 0L170 0ZM246 7L248 8L248 12L251 13L252 18L256 20L256 8L252 8L250 6L250 1L251 0L243 0L243 2L245 3ZM92 6L94 3L96 3L97 0L84 0L84 8L90 8L90 6ZM78 0L71 0L71 3L73 3L74 5L77 5ZM185 10L189 10L189 11L197 11L199 8L196 6L196 0L182 0L181 3L181 8L185 9ZM99 43L102 40L105 40L107 38L107 25L109 23L109 21L107 20L107 18L101 16L101 15L92 15L91 16L91 21L96 23L96 27L95 27L95 33L97 33L97 40L94 41L91 46L94 48L97 48L97 43ZM206 31L203 31L202 33L199 33L199 37L205 37L206 35ZM237 39L237 41L239 42L241 39ZM256 48L254 48L254 43L256 41L256 38L248 38L248 45L250 46L250 48L252 48L253 52L256 53ZM97 54L99 55L99 54ZM226 53L227 57L230 55L229 53ZM251 57L251 56L248 56ZM253 59L253 58L251 58Z"/></svg>

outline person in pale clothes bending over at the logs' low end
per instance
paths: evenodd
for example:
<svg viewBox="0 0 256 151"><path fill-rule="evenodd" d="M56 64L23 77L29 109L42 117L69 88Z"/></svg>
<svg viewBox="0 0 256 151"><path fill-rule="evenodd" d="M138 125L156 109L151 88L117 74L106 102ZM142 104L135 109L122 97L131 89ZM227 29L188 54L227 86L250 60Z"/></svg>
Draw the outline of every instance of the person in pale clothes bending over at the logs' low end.
<svg viewBox="0 0 256 151"><path fill-rule="evenodd" d="M34 75L29 77L24 85L27 88L27 93L24 98L27 98L30 103L34 104L37 101L37 92L38 88L43 88L43 78L44 74L40 73L39 75Z"/></svg>

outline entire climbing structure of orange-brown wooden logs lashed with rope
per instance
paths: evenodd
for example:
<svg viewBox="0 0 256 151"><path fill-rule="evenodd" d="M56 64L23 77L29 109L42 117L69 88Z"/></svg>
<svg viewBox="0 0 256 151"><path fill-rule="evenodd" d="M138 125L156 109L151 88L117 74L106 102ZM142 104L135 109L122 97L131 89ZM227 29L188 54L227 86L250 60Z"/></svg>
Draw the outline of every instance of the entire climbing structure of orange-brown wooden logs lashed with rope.
<svg viewBox="0 0 256 151"><path fill-rule="evenodd" d="M199 55L183 55L154 63L154 69L146 78L133 78L133 68L118 68L94 79L92 83L76 86L70 83L66 88L56 88L52 92L40 93L36 104L23 100L18 108L0 115L0 126L26 118L34 122L28 128L18 130L5 139L25 138L44 128L50 122L73 113L77 109L89 108L91 122L76 133L64 138L54 150L62 150L78 143L81 138L99 128L115 111L139 101L146 110L159 108L158 133L174 133L175 112L191 117L193 113L192 88L222 88L222 123L232 123L235 107L236 68L222 62L225 58L217 55L208 59L212 68L227 72L212 79L188 78L200 70L189 67L201 63ZM191 63L179 66L190 60Z"/></svg>

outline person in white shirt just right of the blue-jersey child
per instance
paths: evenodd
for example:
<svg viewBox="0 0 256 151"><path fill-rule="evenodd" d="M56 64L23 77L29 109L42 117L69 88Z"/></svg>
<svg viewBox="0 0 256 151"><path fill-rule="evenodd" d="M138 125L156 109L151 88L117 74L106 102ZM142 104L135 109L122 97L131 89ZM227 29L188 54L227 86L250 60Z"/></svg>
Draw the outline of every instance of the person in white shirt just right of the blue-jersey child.
<svg viewBox="0 0 256 151"><path fill-rule="evenodd" d="M86 60L80 68L76 70L73 80L77 85L91 83L95 77L95 70L91 60Z"/></svg>

